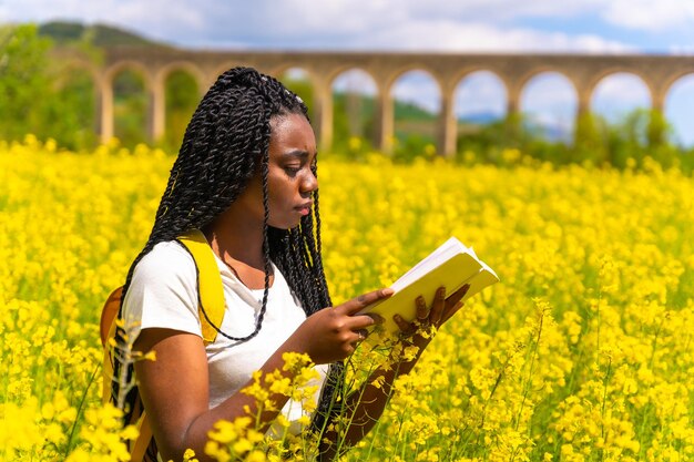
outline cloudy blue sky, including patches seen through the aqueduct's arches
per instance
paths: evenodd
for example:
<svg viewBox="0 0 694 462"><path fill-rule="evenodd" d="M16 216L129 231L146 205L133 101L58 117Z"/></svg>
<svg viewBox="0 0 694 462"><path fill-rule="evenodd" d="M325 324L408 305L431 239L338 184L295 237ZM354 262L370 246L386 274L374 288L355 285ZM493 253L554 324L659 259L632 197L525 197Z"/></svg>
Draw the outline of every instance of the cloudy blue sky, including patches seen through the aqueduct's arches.
<svg viewBox="0 0 694 462"><path fill-rule="evenodd" d="M192 49L694 54L694 0L0 0L0 23L51 20L108 23ZM368 92L370 82L354 72L336 85ZM438 110L438 88L422 72L394 93ZM481 72L460 83L456 113L502 114L504 97ZM609 78L593 94L593 110L611 120L649 104L633 75ZM665 104L684 144L694 144L690 107L694 78L677 82ZM521 109L570 125L575 96L561 75L542 75Z"/></svg>

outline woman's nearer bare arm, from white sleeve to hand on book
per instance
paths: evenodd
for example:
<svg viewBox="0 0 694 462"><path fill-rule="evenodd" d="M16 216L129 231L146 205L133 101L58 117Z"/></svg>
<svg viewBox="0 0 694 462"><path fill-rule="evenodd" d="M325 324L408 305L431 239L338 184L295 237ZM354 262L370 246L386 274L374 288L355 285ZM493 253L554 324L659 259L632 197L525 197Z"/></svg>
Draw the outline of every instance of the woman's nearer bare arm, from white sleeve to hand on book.
<svg viewBox="0 0 694 462"><path fill-rule="evenodd" d="M389 289L372 291L309 316L269 357L261 371L263 374L282 371L282 356L289 351L307 353L317 365L348 357L359 340L357 332L375 322L368 316L354 315L391 292ZM135 374L164 460L182 460L188 448L200 460L206 460L204 446L207 432L215 422L257 414L255 399L241 391L216 408L208 409L207 357L200 337L178 330L149 328L142 330L134 347L136 351L155 351L156 360L135 362ZM292 374L290 371L283 373L287 377ZM272 399L277 404L276 409L282 409L288 398L277 394ZM261 414L265 428L277 413L273 410Z"/></svg>

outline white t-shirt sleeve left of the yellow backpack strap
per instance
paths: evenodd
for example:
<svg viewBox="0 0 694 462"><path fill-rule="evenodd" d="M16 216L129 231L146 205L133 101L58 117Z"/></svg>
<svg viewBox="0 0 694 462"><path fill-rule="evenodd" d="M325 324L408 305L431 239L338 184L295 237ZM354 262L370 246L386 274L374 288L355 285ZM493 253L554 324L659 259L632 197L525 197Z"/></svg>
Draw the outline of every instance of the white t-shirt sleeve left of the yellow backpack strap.
<svg viewBox="0 0 694 462"><path fill-rule="evenodd" d="M165 328L202 337L197 312L197 271L193 257L178 244L157 244L135 267L123 300L130 336Z"/></svg>

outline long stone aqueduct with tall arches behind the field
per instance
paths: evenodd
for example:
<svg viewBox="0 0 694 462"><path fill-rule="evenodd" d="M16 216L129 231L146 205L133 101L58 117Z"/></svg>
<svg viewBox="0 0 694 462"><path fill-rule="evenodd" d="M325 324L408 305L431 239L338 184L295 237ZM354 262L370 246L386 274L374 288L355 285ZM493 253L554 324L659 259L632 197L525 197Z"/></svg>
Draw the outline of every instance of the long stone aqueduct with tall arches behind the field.
<svg viewBox="0 0 694 462"><path fill-rule="evenodd" d="M440 90L437 147L445 155L456 151L456 86L466 75L476 71L490 71L503 82L509 114L519 111L521 91L530 79L543 72L561 73L574 86L578 115L589 110L593 90L609 74L629 72L641 78L651 93L652 107L662 111L670 86L677 79L694 73L694 57L673 55L215 52L121 47L108 49L102 63L94 66L69 50L57 50L55 54L91 72L96 89L98 130L104 141L113 136L113 79L119 72L132 69L144 76L145 90L150 95L147 132L152 140L157 140L164 134L164 88L170 73L177 70L190 73L204 92L226 69L249 65L272 75L280 75L293 68L306 71L314 88L313 122L318 141L322 146L330 146L333 82L340 73L359 69L376 83L376 142L381 150L389 152L395 127L391 88L405 72L426 71Z"/></svg>

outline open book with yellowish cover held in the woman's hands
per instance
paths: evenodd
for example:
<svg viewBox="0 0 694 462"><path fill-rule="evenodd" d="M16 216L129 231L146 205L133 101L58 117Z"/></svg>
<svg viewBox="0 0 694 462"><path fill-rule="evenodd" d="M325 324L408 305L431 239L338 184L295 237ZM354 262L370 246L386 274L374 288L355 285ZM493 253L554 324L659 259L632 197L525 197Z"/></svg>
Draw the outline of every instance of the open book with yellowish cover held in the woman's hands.
<svg viewBox="0 0 694 462"><path fill-rule="evenodd" d="M462 298L465 301L498 281L499 277L493 269L480 260L472 248L451 237L396 280L390 286L395 290L390 298L377 301L359 314L378 314L385 320L385 329L395 333L399 329L392 316L398 314L407 321L415 320L417 317L415 299L418 296L421 295L427 305L430 305L439 287L446 287L448 297L465 284L469 284L470 288Z"/></svg>

